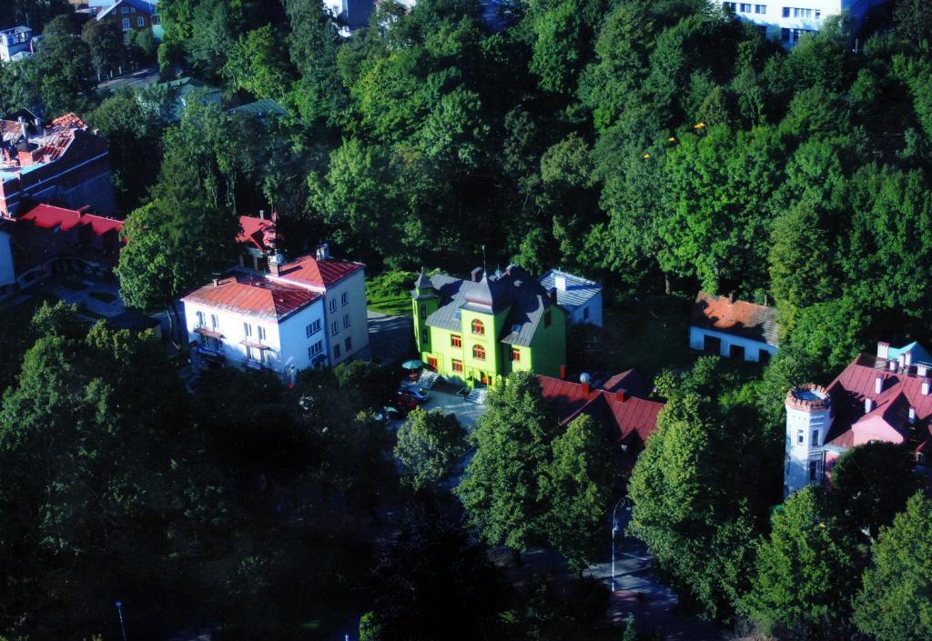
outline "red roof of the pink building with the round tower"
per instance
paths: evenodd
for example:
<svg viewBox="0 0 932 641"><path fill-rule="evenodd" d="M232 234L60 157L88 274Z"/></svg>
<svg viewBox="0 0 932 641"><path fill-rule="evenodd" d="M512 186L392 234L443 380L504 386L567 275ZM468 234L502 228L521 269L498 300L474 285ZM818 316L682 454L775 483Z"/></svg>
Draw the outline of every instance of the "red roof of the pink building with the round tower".
<svg viewBox="0 0 932 641"><path fill-rule="evenodd" d="M910 432L909 411L916 412L916 424L928 431L932 418L932 394L923 395L923 381L927 378L899 371L890 371L886 359L861 354L828 387L833 405L831 429L826 442L838 447L851 447L857 423L870 418L881 418L893 430L905 436ZM876 393L876 379L884 382ZM864 413L864 401L873 401L870 413Z"/></svg>

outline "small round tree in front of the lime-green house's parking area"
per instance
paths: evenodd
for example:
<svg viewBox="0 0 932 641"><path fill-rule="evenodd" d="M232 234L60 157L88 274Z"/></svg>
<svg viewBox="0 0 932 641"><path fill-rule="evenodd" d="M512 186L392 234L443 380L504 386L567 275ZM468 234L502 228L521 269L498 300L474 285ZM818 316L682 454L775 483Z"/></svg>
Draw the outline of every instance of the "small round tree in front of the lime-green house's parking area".
<svg viewBox="0 0 932 641"><path fill-rule="evenodd" d="M398 430L395 457L415 490L440 489L466 454L466 430L457 417L416 409Z"/></svg>

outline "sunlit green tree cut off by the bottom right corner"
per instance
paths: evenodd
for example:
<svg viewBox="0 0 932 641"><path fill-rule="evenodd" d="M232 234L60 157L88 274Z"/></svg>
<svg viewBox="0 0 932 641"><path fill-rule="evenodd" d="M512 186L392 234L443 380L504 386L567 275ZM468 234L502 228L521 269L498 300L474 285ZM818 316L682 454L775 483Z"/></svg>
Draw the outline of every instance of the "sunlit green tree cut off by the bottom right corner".
<svg viewBox="0 0 932 641"><path fill-rule="evenodd" d="M878 641L921 641L932 621L932 500L915 494L881 528L855 600L858 630Z"/></svg>

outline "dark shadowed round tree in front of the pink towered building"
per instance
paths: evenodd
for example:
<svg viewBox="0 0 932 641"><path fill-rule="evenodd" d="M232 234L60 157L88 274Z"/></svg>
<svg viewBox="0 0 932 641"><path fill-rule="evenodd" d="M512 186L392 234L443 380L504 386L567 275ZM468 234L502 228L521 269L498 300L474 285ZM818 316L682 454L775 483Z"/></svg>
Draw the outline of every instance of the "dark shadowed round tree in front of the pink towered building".
<svg viewBox="0 0 932 641"><path fill-rule="evenodd" d="M883 525L906 507L916 485L907 448L866 443L845 452L831 471L832 495L852 534L866 529L876 539Z"/></svg>

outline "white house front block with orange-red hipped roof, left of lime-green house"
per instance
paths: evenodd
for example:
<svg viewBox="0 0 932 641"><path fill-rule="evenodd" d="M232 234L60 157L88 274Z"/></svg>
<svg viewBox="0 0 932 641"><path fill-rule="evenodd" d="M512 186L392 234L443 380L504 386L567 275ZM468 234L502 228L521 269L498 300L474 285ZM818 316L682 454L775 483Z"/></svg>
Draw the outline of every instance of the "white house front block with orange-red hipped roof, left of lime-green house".
<svg viewBox="0 0 932 641"><path fill-rule="evenodd" d="M233 271L182 301L192 351L205 361L289 377L329 362L322 293Z"/></svg>

